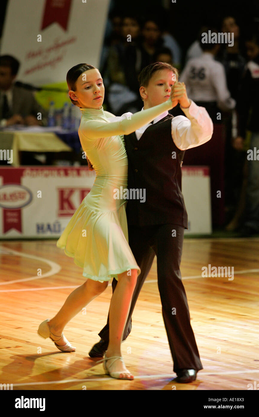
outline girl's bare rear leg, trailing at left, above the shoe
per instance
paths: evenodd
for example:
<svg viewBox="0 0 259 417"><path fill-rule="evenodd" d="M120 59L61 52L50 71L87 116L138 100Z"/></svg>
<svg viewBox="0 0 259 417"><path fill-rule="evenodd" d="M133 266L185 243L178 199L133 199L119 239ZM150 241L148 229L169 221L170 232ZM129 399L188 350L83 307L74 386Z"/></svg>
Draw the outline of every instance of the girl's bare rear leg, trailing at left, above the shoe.
<svg viewBox="0 0 259 417"><path fill-rule="evenodd" d="M107 286L108 281L101 283L87 279L84 284L72 291L56 316L49 321L50 331L60 337L66 324L90 301L101 294ZM59 337L53 337L53 339L59 339Z"/></svg>

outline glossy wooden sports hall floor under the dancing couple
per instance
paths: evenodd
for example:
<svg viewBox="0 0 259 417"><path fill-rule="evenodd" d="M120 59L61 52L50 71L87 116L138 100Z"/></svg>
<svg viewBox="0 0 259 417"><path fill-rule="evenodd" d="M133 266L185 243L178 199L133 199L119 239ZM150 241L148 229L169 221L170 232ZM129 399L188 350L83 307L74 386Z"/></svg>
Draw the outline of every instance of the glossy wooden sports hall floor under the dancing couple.
<svg viewBox="0 0 259 417"><path fill-rule="evenodd" d="M202 267L234 267L234 279L202 277ZM41 273L40 270L41 269ZM156 258L122 344L133 381L104 374L88 352L106 324L111 285L77 314L64 334L76 352L62 353L37 335L85 279L56 240L0 243L0 383L14 390L247 390L259 379L259 238L185 239L181 263L192 329L203 368L195 382L174 383L161 313Z"/></svg>

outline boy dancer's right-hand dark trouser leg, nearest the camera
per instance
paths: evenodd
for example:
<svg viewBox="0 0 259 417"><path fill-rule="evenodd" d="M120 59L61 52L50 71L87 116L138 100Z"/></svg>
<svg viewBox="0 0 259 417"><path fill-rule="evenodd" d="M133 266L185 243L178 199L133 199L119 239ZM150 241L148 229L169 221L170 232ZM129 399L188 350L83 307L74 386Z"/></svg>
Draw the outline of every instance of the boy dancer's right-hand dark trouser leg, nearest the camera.
<svg viewBox="0 0 259 417"><path fill-rule="evenodd" d="M176 236L172 236L174 229ZM180 273L183 234L182 226L160 225L153 246L157 256L158 289L174 372L184 368L203 369Z"/></svg>

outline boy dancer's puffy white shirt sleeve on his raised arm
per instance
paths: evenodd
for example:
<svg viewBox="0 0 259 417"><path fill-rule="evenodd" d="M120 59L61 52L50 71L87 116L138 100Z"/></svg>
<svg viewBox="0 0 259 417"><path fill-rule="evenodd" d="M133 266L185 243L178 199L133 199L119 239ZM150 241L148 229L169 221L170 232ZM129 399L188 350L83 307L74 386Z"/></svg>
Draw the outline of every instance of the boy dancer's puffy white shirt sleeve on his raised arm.
<svg viewBox="0 0 259 417"><path fill-rule="evenodd" d="M171 123L172 138L178 149L185 151L208 142L212 137L213 123L207 110L192 100L189 107L180 108L187 117L176 116Z"/></svg>

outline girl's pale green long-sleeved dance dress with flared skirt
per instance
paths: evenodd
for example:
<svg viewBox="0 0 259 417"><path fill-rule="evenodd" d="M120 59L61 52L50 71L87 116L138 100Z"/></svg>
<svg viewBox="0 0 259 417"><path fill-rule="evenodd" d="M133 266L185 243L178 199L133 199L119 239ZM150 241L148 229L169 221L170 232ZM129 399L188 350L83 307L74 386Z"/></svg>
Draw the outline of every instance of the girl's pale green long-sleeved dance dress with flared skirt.
<svg viewBox="0 0 259 417"><path fill-rule="evenodd" d="M62 232L57 247L83 268L83 276L95 281L118 279L118 274L141 270L128 245L126 202L114 198L127 188L128 158L123 134L128 135L172 108L170 100L127 118L93 108L80 108L81 146L91 161L96 178L90 192ZM114 120L114 121L113 121ZM130 274L130 272L129 272Z"/></svg>

